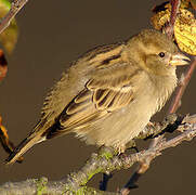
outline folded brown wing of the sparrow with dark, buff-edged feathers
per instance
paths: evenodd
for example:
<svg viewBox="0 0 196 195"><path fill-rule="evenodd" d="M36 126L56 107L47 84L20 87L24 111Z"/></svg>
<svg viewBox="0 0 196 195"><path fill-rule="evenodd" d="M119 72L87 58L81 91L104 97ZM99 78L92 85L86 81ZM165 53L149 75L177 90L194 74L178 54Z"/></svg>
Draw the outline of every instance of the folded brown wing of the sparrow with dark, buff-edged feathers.
<svg viewBox="0 0 196 195"><path fill-rule="evenodd" d="M50 131L48 139L73 129L84 128L102 117L130 104L134 99L138 66L115 63L96 67L82 91L64 108L58 117L61 129ZM63 131L63 132L62 132Z"/></svg>

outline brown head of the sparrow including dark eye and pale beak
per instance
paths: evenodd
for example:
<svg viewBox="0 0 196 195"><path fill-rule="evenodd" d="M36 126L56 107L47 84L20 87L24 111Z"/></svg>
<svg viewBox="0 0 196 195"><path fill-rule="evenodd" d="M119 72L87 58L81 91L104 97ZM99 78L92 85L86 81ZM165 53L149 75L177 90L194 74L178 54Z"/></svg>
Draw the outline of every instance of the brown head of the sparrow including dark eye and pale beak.
<svg viewBox="0 0 196 195"><path fill-rule="evenodd" d="M140 66L155 75L174 73L177 66L187 65L190 61L171 39L154 29L142 30L128 41L128 46Z"/></svg>

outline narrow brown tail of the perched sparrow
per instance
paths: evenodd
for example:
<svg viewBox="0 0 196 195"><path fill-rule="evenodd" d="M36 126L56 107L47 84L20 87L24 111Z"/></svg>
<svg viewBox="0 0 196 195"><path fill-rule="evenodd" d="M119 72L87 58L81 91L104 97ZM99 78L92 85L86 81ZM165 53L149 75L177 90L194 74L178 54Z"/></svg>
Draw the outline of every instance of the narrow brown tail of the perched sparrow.
<svg viewBox="0 0 196 195"><path fill-rule="evenodd" d="M37 127L39 127L39 125ZM14 164L30 147L44 140L45 140L44 136L41 136L39 132L34 131L29 136L23 140L17 147L14 148L13 153L11 153L10 156L5 159L5 164L6 165Z"/></svg>

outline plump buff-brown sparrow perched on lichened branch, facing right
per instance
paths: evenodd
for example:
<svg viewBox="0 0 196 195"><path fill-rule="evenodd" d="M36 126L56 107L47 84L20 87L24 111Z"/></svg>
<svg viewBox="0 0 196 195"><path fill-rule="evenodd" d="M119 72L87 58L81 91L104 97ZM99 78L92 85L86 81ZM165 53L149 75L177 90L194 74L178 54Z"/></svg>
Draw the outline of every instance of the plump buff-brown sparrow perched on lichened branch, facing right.
<svg viewBox="0 0 196 195"><path fill-rule="evenodd" d="M123 153L172 94L177 66L188 61L155 29L91 49L63 73L45 98L39 122L6 164L37 143L71 132L87 144Z"/></svg>

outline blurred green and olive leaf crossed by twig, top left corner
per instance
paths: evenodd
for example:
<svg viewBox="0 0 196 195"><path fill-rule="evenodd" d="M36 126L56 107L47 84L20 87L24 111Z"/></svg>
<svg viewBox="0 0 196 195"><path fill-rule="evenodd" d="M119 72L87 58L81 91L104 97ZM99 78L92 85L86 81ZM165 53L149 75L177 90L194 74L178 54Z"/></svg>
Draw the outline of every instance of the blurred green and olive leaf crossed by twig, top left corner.
<svg viewBox="0 0 196 195"><path fill-rule="evenodd" d="M0 18L4 17L11 8L8 0L0 0ZM12 20L10 26L0 35L0 42L8 53L12 53L15 43L17 42L18 29L15 18Z"/></svg>

